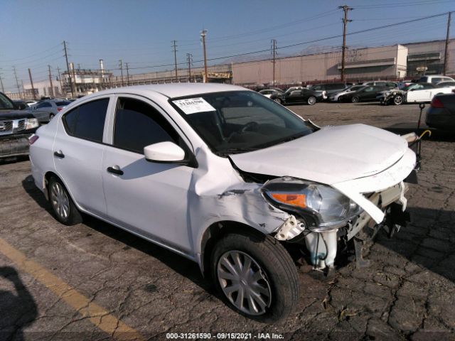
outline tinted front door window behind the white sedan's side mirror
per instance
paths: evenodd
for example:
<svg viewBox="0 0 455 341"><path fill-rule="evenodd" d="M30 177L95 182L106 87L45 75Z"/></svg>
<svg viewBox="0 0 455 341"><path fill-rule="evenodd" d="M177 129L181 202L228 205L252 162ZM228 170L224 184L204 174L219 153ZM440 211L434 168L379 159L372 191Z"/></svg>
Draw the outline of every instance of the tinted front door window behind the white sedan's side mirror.
<svg viewBox="0 0 455 341"><path fill-rule="evenodd" d="M151 105L139 99L119 98L114 122L114 146L136 153L144 147L171 141L181 145L171 124Z"/></svg>

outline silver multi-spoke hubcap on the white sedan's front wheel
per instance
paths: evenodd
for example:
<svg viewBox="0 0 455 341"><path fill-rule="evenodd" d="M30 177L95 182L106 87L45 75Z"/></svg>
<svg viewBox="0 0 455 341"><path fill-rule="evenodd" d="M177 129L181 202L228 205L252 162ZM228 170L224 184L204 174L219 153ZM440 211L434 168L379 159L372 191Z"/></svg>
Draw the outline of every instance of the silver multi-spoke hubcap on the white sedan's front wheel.
<svg viewBox="0 0 455 341"><path fill-rule="evenodd" d="M228 300L249 315L262 315L270 306L272 292L259 264L242 251L228 251L217 266L218 281Z"/></svg>

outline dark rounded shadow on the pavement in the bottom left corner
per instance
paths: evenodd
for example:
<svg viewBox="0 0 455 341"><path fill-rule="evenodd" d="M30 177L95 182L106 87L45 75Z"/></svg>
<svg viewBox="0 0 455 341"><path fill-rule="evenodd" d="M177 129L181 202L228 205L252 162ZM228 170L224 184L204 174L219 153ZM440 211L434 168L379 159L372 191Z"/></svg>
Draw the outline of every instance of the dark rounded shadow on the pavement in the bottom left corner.
<svg viewBox="0 0 455 341"><path fill-rule="evenodd" d="M0 266L0 283L7 281L14 291L0 290L0 340L24 340L23 329L38 316L31 293L11 266Z"/></svg>

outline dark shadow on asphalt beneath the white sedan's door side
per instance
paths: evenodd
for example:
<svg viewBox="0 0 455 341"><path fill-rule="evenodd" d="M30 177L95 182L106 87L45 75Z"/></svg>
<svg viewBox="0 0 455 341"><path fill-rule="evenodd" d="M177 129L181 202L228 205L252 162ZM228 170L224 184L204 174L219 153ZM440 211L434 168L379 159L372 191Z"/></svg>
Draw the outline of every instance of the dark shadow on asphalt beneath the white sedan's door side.
<svg viewBox="0 0 455 341"><path fill-rule="evenodd" d="M26 193L40 205L44 210L46 210L49 215L53 215L52 207L50 203L45 200L43 193L39 190L36 185L33 183L33 178L31 175L28 175L22 181L23 189ZM53 219L53 218L52 218ZM195 283L197 286L203 290L214 295L218 298L222 298L218 295L218 291L215 291L215 288L212 286L210 278L205 278L201 273L198 264L194 261L186 259L183 256L180 256L164 247L160 247L152 242L148 242L145 239L137 237L136 235L124 231L119 227L114 227L112 224L99 220L90 215L83 215L84 222L87 227L94 229L97 232L105 234L105 236L115 239L123 244L125 244L124 250L133 248L137 249L144 254L153 256L166 266L176 271L178 274L185 276Z"/></svg>

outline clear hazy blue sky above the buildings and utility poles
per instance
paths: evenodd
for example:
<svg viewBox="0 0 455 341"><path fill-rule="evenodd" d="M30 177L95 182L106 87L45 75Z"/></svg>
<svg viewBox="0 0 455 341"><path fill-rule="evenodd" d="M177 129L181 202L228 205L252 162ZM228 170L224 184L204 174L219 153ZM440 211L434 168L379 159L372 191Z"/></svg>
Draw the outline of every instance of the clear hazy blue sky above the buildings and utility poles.
<svg viewBox="0 0 455 341"><path fill-rule="evenodd" d="M38 82L50 65L55 80L57 67L66 69L63 40L76 67L97 69L102 59L114 75L120 59L130 74L172 70L173 40L178 67L187 53L199 67L204 28L209 65L266 58L272 39L278 57L340 49L344 4L353 8L349 48L444 39L447 15L355 32L455 11L455 0L0 0L0 77L5 91L17 92L14 66L27 84L28 68Z"/></svg>

